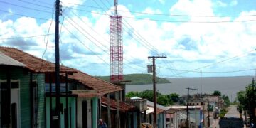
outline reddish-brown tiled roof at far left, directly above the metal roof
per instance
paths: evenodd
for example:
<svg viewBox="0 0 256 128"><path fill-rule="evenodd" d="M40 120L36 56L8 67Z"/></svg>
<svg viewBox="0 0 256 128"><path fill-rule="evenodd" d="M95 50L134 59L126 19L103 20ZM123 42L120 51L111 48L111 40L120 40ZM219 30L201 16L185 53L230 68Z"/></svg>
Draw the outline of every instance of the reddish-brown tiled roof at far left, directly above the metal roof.
<svg viewBox="0 0 256 128"><path fill-rule="evenodd" d="M25 53L16 48L0 47L0 51L5 55L26 65L26 68L36 73L53 73L55 72L55 63L50 63L31 54ZM60 66L61 73L75 73L73 68Z"/></svg>

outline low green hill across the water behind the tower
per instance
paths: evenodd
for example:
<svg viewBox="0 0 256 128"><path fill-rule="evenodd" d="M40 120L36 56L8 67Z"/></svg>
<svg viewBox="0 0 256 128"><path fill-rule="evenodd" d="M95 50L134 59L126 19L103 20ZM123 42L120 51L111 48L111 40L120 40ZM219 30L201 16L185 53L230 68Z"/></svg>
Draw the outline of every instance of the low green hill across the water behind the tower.
<svg viewBox="0 0 256 128"><path fill-rule="evenodd" d="M95 76L105 81L110 81L110 76ZM127 85L146 85L152 83L152 75L150 74L128 74L124 75L124 80L131 80L132 82L127 82ZM156 77L157 83L170 83L166 78Z"/></svg>

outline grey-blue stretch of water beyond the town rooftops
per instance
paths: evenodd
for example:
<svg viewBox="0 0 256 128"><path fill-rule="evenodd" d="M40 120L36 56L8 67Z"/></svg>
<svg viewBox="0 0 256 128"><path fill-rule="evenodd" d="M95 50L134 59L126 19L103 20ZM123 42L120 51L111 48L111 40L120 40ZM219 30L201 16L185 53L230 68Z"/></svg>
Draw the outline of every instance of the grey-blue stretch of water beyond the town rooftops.
<svg viewBox="0 0 256 128"><path fill-rule="evenodd" d="M190 94L195 93L213 93L219 90L221 94L228 95L230 100L234 101L236 93L245 90L245 87L252 82L252 76L241 77L216 77L216 78L168 78L171 83L156 84L156 90L162 94L178 93L187 95L187 87L198 89L191 90ZM144 90L153 90L153 85L127 85L126 93L131 91L142 92Z"/></svg>

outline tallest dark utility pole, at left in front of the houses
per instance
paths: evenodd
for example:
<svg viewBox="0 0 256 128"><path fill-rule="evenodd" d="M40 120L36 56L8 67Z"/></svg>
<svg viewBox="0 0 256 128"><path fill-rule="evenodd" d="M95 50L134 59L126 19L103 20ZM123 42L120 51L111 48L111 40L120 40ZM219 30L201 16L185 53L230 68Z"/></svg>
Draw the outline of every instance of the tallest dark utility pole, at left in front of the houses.
<svg viewBox="0 0 256 128"><path fill-rule="evenodd" d="M56 113L58 120L57 128L60 127L60 50L59 50L59 16L60 0L56 0L55 6L55 91L56 91Z"/></svg>

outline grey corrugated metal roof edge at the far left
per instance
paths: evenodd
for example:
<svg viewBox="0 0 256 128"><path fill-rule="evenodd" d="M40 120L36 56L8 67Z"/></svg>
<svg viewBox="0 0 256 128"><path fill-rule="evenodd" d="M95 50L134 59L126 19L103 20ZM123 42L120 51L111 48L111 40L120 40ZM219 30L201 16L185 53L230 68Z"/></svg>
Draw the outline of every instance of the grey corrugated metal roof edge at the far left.
<svg viewBox="0 0 256 128"><path fill-rule="evenodd" d="M0 51L0 65L13 65L13 66L26 67L26 65L24 65L23 63L20 63L17 60L10 58L9 56L2 53L1 51Z"/></svg>

